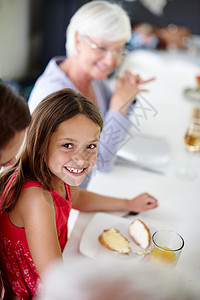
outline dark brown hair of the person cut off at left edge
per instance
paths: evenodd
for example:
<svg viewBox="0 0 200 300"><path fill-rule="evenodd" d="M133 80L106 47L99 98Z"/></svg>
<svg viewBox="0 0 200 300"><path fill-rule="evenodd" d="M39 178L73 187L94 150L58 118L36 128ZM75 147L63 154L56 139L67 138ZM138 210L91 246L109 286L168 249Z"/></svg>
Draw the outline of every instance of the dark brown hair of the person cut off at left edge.
<svg viewBox="0 0 200 300"><path fill-rule="evenodd" d="M5 82L0 80L0 151L31 121L28 104Z"/></svg>

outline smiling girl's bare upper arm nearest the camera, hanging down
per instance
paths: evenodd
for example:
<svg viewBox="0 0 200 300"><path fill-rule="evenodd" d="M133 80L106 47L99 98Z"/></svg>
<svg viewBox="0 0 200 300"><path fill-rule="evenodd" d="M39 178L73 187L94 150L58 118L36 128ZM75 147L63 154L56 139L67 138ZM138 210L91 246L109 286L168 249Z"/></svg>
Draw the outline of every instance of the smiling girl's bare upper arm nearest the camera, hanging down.
<svg viewBox="0 0 200 300"><path fill-rule="evenodd" d="M51 194L39 187L22 191L19 199L19 214L36 269L41 275L57 258L61 249L57 236L55 210Z"/></svg>

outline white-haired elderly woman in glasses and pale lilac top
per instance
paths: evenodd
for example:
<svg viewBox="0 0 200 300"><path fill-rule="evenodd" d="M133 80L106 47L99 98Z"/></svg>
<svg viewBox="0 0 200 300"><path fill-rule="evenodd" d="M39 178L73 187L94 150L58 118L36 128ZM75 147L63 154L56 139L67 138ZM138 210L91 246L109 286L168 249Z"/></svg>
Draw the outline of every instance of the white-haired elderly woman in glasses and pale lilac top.
<svg viewBox="0 0 200 300"><path fill-rule="evenodd" d="M129 17L119 5L107 1L83 5L67 28L67 57L51 59L29 98L31 112L46 95L64 87L78 90L91 99L104 119L97 160L97 168L103 171L111 169L130 130L127 116L139 85L151 80L144 81L126 71L117 78L113 94L105 83L125 55L124 47L130 37ZM89 177L84 180L83 188Z"/></svg>

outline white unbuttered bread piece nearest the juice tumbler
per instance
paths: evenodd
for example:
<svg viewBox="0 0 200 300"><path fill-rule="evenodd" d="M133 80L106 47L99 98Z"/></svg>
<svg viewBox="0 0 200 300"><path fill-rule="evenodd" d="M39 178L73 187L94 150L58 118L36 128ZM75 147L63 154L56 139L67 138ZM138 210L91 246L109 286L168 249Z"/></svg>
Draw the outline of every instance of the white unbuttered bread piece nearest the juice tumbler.
<svg viewBox="0 0 200 300"><path fill-rule="evenodd" d="M129 225L129 234L133 241L142 249L149 247L151 235L148 227L140 219L131 222Z"/></svg>

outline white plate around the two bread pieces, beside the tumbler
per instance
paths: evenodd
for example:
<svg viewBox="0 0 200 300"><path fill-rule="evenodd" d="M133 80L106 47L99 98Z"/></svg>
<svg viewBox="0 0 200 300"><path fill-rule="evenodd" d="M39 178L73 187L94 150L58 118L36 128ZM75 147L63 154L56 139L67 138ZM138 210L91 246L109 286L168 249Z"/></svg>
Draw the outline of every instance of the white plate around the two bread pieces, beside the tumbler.
<svg viewBox="0 0 200 300"><path fill-rule="evenodd" d="M104 246L102 246L98 240L99 235L104 231L104 229L109 229L114 227L118 229L120 233L123 234L130 241L130 247L132 250L142 251L142 249L133 242L133 240L131 239L128 233L129 224L136 218L137 217L133 217L133 219L130 220L115 215L111 215L108 213L95 214L83 233L79 245L80 252L84 256L90 258L94 258L96 256L103 256L103 255L106 256L118 255L121 257L131 256L137 259L141 259L141 256L137 254L125 255L125 254L118 254L115 251L111 251L105 248Z"/></svg>

